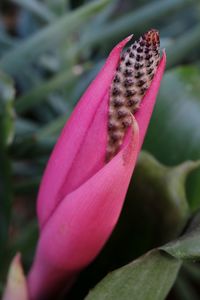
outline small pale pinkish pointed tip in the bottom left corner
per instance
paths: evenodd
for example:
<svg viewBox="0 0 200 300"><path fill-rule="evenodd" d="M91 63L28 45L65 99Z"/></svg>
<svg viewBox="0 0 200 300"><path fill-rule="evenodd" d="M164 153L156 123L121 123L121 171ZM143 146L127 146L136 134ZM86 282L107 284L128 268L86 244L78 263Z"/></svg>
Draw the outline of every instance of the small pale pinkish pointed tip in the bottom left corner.
<svg viewBox="0 0 200 300"><path fill-rule="evenodd" d="M27 284L21 266L20 254L17 254L11 262L2 300L28 300Z"/></svg>

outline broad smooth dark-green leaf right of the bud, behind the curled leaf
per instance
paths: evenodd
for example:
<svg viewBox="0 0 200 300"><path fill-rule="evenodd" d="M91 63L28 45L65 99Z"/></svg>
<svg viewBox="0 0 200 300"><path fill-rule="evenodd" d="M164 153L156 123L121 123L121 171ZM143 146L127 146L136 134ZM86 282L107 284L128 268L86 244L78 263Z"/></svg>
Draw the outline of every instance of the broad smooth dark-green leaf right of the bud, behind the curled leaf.
<svg viewBox="0 0 200 300"><path fill-rule="evenodd" d="M176 68L163 78L144 148L165 164L200 158L199 82L197 66ZM188 185L192 209L200 205L199 184L197 171Z"/></svg>

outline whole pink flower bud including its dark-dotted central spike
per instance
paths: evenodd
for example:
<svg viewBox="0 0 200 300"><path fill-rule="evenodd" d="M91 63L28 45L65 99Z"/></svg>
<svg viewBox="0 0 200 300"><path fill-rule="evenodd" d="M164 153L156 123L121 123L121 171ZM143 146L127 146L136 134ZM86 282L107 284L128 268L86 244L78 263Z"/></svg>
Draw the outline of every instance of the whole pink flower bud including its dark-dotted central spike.
<svg viewBox="0 0 200 300"><path fill-rule="evenodd" d="M121 212L165 67L150 30L91 83L53 150L38 197L40 237L28 276L31 300L70 286L100 252Z"/></svg>

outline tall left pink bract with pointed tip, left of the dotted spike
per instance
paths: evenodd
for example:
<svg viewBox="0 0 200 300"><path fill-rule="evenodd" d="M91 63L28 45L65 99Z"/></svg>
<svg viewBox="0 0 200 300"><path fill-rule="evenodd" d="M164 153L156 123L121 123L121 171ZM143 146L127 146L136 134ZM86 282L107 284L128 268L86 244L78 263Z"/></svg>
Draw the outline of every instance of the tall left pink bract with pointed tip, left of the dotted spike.
<svg viewBox="0 0 200 300"><path fill-rule="evenodd" d="M124 39L112 50L62 131L40 186L37 202L40 227L65 195L105 164L109 86L120 53L131 37Z"/></svg>

